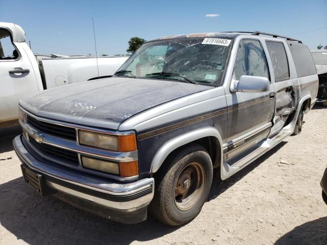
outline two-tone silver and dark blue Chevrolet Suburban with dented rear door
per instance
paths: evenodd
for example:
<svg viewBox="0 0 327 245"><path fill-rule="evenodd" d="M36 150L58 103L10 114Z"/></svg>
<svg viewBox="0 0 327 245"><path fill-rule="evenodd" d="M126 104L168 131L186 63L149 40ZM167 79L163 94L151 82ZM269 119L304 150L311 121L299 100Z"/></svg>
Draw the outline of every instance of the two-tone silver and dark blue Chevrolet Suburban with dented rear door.
<svg viewBox="0 0 327 245"><path fill-rule="evenodd" d="M112 78L20 100L13 143L40 194L122 223L149 210L178 226L200 212L214 168L225 180L300 133L317 91L299 40L169 36L146 42Z"/></svg>

